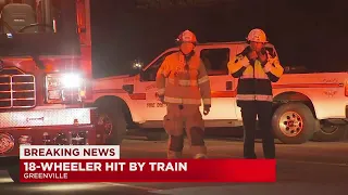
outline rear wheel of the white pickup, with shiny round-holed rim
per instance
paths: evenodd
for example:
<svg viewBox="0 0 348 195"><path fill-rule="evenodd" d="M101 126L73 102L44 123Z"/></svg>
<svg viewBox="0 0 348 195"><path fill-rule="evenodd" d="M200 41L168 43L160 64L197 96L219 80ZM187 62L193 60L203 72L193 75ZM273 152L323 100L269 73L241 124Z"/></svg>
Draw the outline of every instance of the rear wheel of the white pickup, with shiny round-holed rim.
<svg viewBox="0 0 348 195"><path fill-rule="evenodd" d="M315 118L302 103L281 105L273 114L272 127L276 139L285 144L301 144L314 133Z"/></svg>

